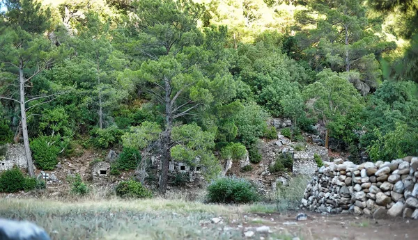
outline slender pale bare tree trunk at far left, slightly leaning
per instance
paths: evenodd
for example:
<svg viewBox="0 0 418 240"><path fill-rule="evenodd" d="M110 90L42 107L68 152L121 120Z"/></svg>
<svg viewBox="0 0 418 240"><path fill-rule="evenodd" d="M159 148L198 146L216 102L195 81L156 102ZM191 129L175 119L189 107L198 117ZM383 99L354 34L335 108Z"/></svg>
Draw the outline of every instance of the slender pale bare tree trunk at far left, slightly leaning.
<svg viewBox="0 0 418 240"><path fill-rule="evenodd" d="M28 172L31 177L35 177L35 170L33 168L31 148L29 147L29 136L28 136L28 127L26 124L26 106L25 106L25 93L24 93L24 84L26 79L23 76L23 61L20 61L19 66L19 82L20 82L20 115L22 121L22 134L23 134L23 143L24 143L24 152L26 154L26 161L28 163Z"/></svg>

